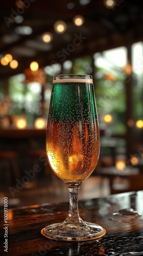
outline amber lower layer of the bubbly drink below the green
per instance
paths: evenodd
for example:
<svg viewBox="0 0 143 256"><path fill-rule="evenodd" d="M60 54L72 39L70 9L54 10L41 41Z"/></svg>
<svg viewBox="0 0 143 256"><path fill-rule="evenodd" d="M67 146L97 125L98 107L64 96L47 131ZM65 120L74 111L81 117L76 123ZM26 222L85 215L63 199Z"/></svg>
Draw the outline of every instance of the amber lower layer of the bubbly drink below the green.
<svg viewBox="0 0 143 256"><path fill-rule="evenodd" d="M91 130L87 122L50 121L47 131L47 158L55 174L65 182L87 178L99 159L96 124Z"/></svg>

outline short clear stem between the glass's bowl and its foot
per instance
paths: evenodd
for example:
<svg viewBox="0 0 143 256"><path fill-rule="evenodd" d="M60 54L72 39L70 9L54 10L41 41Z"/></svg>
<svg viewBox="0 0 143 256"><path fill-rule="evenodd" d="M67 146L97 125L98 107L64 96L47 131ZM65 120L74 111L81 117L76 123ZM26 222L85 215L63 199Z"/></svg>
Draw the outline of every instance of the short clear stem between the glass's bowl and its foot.
<svg viewBox="0 0 143 256"><path fill-rule="evenodd" d="M78 208L78 192L80 185L81 184L67 185L69 190L69 211L65 221L68 223L82 222Z"/></svg>

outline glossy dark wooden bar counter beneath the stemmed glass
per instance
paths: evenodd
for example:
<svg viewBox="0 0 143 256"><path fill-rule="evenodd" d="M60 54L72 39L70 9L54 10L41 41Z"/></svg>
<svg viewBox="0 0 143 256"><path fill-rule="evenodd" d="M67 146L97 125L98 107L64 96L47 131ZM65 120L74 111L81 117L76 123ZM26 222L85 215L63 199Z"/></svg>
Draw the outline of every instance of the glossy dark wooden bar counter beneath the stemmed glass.
<svg viewBox="0 0 143 256"><path fill-rule="evenodd" d="M133 208L136 212L122 211ZM119 215L114 212L121 210ZM143 255L143 190L79 201L83 220L106 229L103 238L61 242L40 233L49 224L62 222L68 203L26 206L8 210L8 252L4 251L4 211L1 211L0 255Z"/></svg>

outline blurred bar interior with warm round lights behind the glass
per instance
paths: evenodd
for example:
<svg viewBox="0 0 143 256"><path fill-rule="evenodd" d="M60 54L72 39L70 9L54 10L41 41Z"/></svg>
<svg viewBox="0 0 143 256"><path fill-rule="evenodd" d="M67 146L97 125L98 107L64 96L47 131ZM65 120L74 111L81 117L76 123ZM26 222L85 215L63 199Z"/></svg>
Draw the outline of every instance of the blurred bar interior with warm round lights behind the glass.
<svg viewBox="0 0 143 256"><path fill-rule="evenodd" d="M93 77L101 154L80 199L143 189L143 3L6 0L0 15L0 204L68 200L45 155L55 74Z"/></svg>

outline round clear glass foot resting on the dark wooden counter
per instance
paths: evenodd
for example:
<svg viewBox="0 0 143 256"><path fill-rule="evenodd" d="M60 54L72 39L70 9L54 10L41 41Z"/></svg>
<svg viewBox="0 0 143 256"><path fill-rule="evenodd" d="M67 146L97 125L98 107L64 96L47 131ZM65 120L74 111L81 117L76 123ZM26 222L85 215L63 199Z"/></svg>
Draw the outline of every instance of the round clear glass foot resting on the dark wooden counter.
<svg viewBox="0 0 143 256"><path fill-rule="evenodd" d="M46 238L61 241L86 241L100 238L105 233L104 228L90 222L78 224L56 223L41 230L41 234Z"/></svg>

